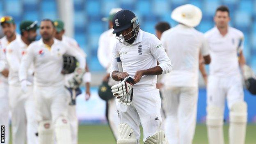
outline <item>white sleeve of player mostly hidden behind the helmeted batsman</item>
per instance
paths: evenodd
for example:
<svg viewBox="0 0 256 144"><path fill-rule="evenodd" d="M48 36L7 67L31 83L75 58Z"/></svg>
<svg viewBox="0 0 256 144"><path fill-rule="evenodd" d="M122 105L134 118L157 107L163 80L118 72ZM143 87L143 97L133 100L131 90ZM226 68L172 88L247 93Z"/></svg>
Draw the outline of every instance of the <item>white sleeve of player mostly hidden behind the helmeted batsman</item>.
<svg viewBox="0 0 256 144"><path fill-rule="evenodd" d="M99 42L98 42L97 55L98 55L98 60L99 60L100 64L105 69L107 69L110 65L110 59L107 55L108 48L106 48L106 43L109 43L109 42L104 39L104 35L101 35Z"/></svg>

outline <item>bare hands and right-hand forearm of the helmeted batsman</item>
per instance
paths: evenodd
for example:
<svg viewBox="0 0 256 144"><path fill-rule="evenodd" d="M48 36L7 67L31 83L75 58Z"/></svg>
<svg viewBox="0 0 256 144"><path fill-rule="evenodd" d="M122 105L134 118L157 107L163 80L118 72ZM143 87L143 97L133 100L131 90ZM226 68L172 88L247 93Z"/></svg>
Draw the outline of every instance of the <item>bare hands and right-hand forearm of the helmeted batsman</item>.
<svg viewBox="0 0 256 144"><path fill-rule="evenodd" d="M133 78L134 84L139 82L143 75L160 75L160 74L162 74L162 69L160 66L155 66L153 68L146 69L146 70L136 71L134 78ZM126 78L128 76L129 75L127 72L113 71L113 73L112 73L112 78L116 81L119 81L122 78Z"/></svg>

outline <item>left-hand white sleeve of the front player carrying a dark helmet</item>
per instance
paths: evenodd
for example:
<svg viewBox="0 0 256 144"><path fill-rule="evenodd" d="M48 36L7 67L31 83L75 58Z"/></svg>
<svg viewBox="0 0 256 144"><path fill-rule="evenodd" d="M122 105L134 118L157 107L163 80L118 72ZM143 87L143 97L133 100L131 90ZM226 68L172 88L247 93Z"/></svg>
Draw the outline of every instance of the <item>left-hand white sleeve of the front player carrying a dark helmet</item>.
<svg viewBox="0 0 256 144"><path fill-rule="evenodd" d="M27 79L27 70L29 69L30 65L34 61L34 51L33 46L30 45L27 48L27 52L24 53L22 59L21 59L21 65L19 67L19 80L26 80Z"/></svg>

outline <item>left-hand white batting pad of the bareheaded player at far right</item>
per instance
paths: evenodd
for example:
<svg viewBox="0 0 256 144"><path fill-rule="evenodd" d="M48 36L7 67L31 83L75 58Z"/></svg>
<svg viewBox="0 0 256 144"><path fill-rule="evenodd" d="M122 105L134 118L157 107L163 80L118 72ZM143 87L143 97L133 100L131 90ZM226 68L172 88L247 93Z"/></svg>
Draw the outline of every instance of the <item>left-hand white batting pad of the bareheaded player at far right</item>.
<svg viewBox="0 0 256 144"><path fill-rule="evenodd" d="M209 144L224 144L223 110L215 105L206 108L206 125Z"/></svg>

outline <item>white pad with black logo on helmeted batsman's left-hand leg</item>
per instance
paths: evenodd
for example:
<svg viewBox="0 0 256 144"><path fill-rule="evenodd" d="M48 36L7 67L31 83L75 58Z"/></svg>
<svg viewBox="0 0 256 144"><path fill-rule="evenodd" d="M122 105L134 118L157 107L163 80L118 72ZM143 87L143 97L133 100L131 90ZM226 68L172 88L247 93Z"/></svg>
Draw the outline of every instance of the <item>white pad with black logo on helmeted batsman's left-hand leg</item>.
<svg viewBox="0 0 256 144"><path fill-rule="evenodd" d="M119 123L118 125L117 144L137 144L133 128L126 123Z"/></svg>

